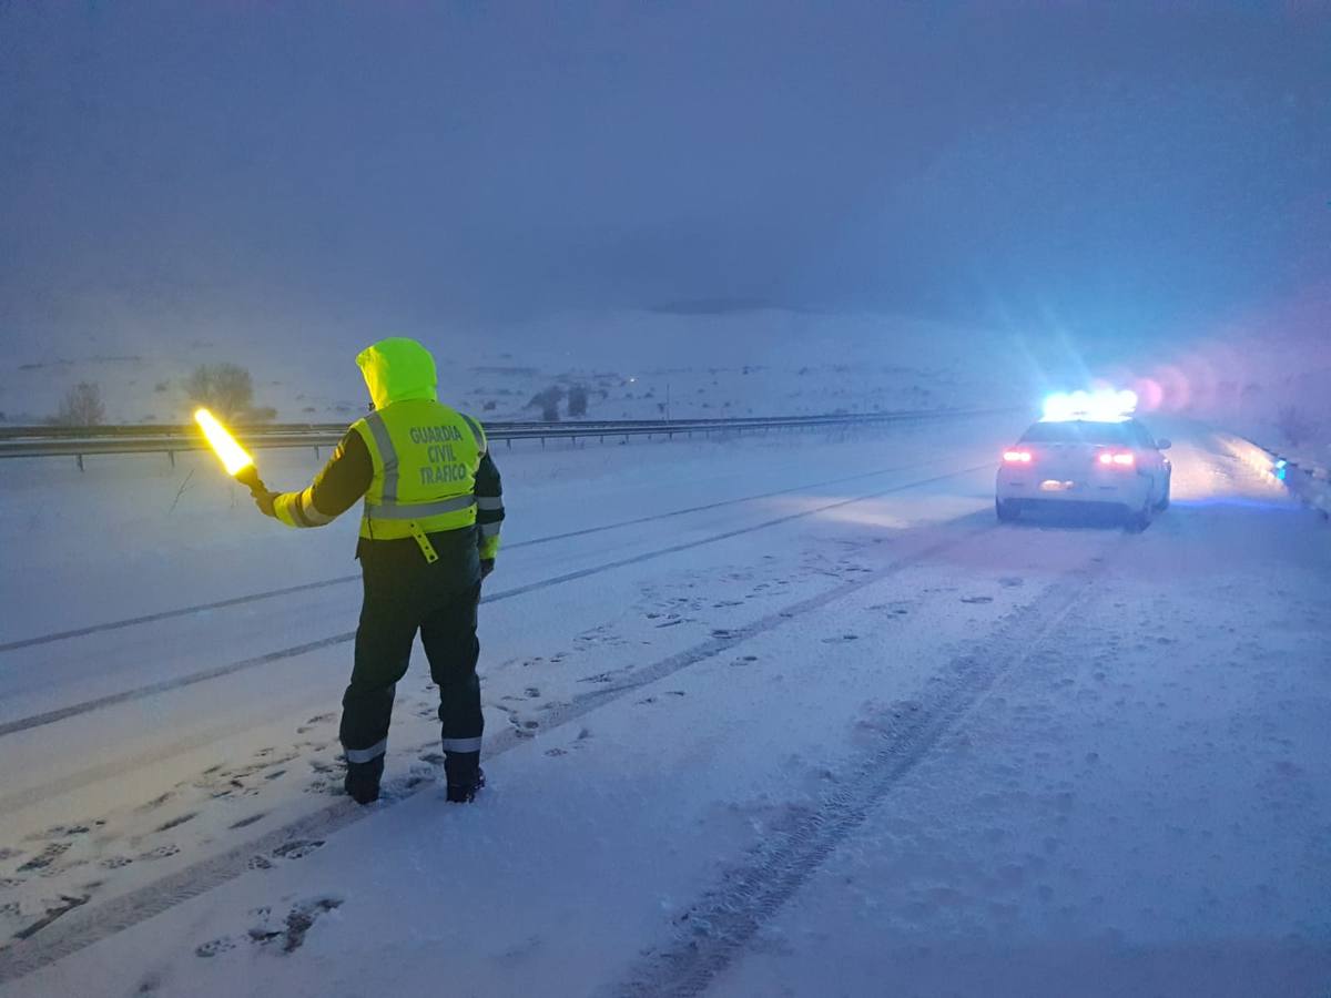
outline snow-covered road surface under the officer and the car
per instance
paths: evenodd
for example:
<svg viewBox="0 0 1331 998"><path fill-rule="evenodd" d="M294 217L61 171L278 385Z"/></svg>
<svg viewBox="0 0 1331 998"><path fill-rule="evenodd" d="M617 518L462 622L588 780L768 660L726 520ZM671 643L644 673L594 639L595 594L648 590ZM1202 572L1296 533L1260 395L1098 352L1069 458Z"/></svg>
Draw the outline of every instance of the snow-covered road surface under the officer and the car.
<svg viewBox="0 0 1331 998"><path fill-rule="evenodd" d="M1163 420L1000 526L1022 422L500 451L473 808L419 652L338 796L351 519L4 462L0 993L1324 995L1331 531Z"/></svg>

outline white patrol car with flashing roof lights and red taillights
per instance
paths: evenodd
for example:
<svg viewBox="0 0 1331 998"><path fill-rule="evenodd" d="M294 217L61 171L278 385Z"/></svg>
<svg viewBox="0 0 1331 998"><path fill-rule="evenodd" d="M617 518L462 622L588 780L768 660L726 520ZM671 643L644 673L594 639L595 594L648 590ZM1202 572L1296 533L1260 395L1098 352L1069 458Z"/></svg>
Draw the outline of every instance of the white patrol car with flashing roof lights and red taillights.
<svg viewBox="0 0 1331 998"><path fill-rule="evenodd" d="M1073 393L1045 402L1044 418L1002 455L994 508L1010 522L1040 508L1107 508L1135 530L1169 508L1170 442L1133 413L1137 397Z"/></svg>

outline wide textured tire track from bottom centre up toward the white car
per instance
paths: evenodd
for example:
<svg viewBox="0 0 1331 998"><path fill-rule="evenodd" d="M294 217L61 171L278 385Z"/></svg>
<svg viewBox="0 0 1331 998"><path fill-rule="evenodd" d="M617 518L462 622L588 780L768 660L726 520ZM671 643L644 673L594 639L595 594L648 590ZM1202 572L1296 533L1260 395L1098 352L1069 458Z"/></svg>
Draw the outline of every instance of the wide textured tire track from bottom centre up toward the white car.
<svg viewBox="0 0 1331 998"><path fill-rule="evenodd" d="M1122 548L1123 540L1109 554ZM755 934L808 882L870 812L910 773L1005 673L1037 653L1067 615L1094 589L1109 554L1046 587L1034 603L1008 615L994 631L973 641L918 695L918 708L893 711L880 721L878 745L849 765L853 778L827 794L821 806L772 834L741 866L725 872L676 919L679 937L643 957L607 995L704 994L743 954ZM687 922L684 921L687 919Z"/></svg>

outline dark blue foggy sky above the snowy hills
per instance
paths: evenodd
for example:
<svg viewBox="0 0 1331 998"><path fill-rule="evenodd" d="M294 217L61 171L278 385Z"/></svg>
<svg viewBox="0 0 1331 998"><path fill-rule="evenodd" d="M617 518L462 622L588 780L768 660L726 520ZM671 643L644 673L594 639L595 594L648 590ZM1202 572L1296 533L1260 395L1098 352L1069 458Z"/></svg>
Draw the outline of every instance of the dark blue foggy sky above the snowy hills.
<svg viewBox="0 0 1331 998"><path fill-rule="evenodd" d="M9 3L0 323L737 301L1186 337L1331 273L1328 125L1324 4Z"/></svg>

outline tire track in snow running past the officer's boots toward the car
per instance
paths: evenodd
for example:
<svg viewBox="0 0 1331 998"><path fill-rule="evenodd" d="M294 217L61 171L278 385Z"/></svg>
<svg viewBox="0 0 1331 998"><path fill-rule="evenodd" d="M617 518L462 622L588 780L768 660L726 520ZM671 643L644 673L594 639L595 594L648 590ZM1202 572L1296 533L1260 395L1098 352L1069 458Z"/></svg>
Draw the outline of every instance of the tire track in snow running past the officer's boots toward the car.
<svg viewBox="0 0 1331 998"><path fill-rule="evenodd" d="M944 475L940 476L940 479L954 478L956 474ZM900 488L908 487L909 486L901 486L888 491L900 491ZM866 498L872 496L844 500L841 503L836 503L835 506L862 502ZM803 516L809 514L799 515ZM550 720L543 727L547 731L551 731L556 727L578 720L584 715L606 707L607 704L630 696L634 691L646 684L655 683L671 673L680 672L681 669L715 659L716 656L741 645L752 637L768 633L792 620L803 617L804 615L823 609L837 600L845 599L870 585L876 585L893 575L897 575L946 551L970 544L978 536L992 535L997 532L1000 527L992 522L990 516L992 514L985 510L984 512L966 516L960 520L953 520L950 524L945 524L942 530L946 530L949 526L956 527L957 524L965 524L968 522L982 522L984 526L972 530L962 530L960 534L925 544L918 550L893 559L889 564L869 575L835 585L833 588L816 596L799 600L797 603L789 604L773 613L768 613L751 624L736 627L723 636L712 636L692 648L667 656L666 659L644 665L640 669L624 671L623 673L619 673L619 681L614 687L586 693L571 704L550 711ZM756 528L757 527L752 527L749 530ZM692 544L683 547L692 547ZM492 739L487 737L487 756L492 757L508 752L518 745L526 744L526 740L514 731L507 729ZM430 745L433 744L434 743L430 743ZM31 974L48 963L53 963L63 957L84 949L85 946L91 946L100 939L114 935L118 931L129 929L148 918L174 908L176 905L205 894L209 890L234 880L249 869L250 860L256 854L273 853L282 849L287 844L297 841L323 841L338 830L374 816L382 810L383 806L394 806L403 800L414 797L421 790L430 789L433 786L434 784L430 781L422 782L419 778L413 780L413 777L386 784L385 798L382 798L383 802L378 808L361 808L347 798L341 798L313 814L307 814L282 828L273 829L262 837L237 845L225 853L192 864L177 873L169 874L150 884L145 884L134 890L126 892L125 894L109 898L105 902L88 904L79 910L64 915L60 922L40 934L21 942L15 942L5 949L0 949L0 983Z"/></svg>

